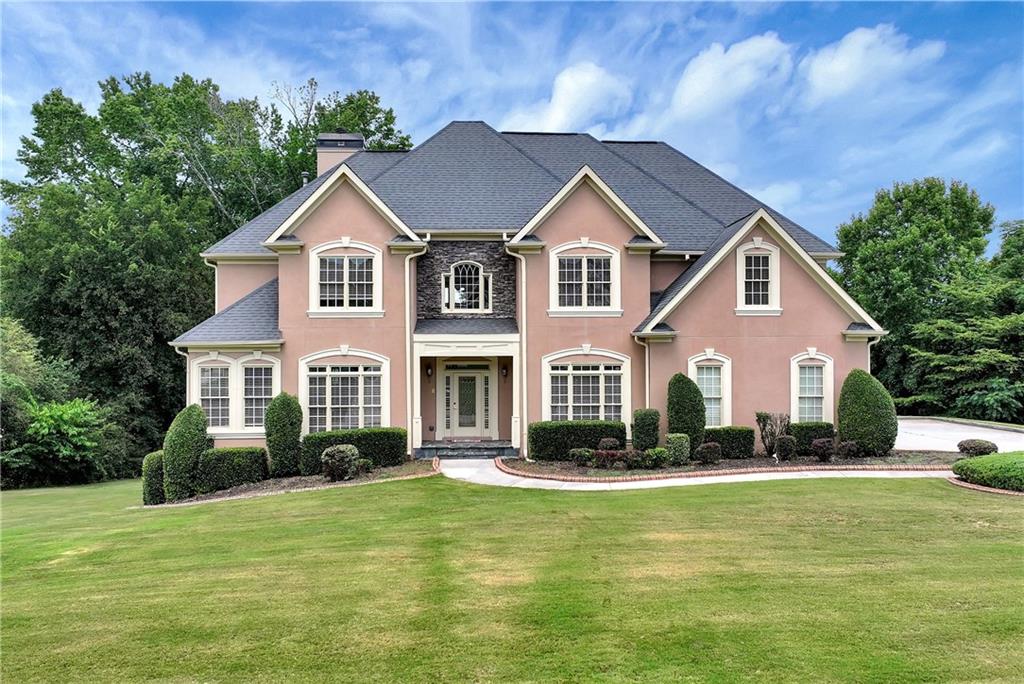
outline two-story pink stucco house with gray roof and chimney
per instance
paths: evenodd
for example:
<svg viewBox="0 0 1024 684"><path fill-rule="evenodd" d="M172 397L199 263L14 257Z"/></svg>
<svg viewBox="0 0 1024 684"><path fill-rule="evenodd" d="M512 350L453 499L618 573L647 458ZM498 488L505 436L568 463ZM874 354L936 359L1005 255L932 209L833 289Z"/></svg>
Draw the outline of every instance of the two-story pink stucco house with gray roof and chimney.
<svg viewBox="0 0 1024 684"><path fill-rule="evenodd" d="M203 254L216 312L172 342L218 445L262 443L286 391L306 431L524 447L532 421L664 416L678 372L709 425L830 421L885 334L825 272L835 248L664 142L454 122L317 156Z"/></svg>

